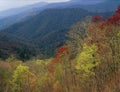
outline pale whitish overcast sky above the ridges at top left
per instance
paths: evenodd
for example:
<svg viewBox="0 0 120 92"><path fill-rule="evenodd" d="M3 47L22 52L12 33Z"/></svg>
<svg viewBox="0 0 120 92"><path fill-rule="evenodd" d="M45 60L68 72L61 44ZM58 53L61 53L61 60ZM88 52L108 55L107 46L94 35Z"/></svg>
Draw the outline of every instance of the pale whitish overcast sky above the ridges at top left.
<svg viewBox="0 0 120 92"><path fill-rule="evenodd" d="M21 7L37 2L66 2L69 0L0 0L0 11L7 10L10 8Z"/></svg>

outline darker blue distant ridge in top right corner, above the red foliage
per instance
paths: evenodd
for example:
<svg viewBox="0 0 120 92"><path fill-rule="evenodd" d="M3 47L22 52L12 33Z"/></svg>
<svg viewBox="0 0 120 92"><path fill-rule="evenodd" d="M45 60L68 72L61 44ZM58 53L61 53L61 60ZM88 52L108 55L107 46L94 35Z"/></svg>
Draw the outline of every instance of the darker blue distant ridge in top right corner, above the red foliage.
<svg viewBox="0 0 120 92"><path fill-rule="evenodd" d="M84 4L85 3L85 4ZM74 4L67 8L82 8L90 12L113 12L120 5L120 0L85 0L83 4L81 0L75 0Z"/></svg>

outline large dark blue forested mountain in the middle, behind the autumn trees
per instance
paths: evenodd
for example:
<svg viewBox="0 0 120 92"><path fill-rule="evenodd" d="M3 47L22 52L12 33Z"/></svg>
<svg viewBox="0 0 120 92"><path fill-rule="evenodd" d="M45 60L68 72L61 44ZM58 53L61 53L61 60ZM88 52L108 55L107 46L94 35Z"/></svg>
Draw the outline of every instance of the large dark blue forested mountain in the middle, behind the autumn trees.
<svg viewBox="0 0 120 92"><path fill-rule="evenodd" d="M86 16L96 14L80 8L47 9L31 19L2 30L2 32L30 40L39 46L43 54L52 56L55 49L64 44L65 35L72 25L82 21ZM107 17L111 15L111 12L100 14Z"/></svg>

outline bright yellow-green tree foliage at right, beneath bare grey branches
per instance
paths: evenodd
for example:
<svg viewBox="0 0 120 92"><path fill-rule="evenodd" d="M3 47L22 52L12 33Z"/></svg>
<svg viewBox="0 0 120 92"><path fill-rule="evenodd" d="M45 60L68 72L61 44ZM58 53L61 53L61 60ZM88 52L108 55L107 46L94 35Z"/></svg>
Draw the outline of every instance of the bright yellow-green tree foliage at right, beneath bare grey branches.
<svg viewBox="0 0 120 92"><path fill-rule="evenodd" d="M94 54L97 51L96 45L88 46L87 44L83 45L83 51L78 54L76 69L83 72L84 76L89 74L94 74L91 71L92 68L96 67L99 64L99 61L95 58Z"/></svg>

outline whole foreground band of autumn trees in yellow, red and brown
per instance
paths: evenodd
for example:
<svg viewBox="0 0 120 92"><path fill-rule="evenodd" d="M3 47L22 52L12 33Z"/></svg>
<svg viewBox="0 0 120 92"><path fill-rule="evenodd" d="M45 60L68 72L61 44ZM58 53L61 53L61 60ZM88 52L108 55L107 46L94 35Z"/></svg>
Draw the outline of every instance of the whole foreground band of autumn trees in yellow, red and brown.
<svg viewBox="0 0 120 92"><path fill-rule="evenodd" d="M86 17L50 59L0 62L0 92L120 92L120 7Z"/></svg>

